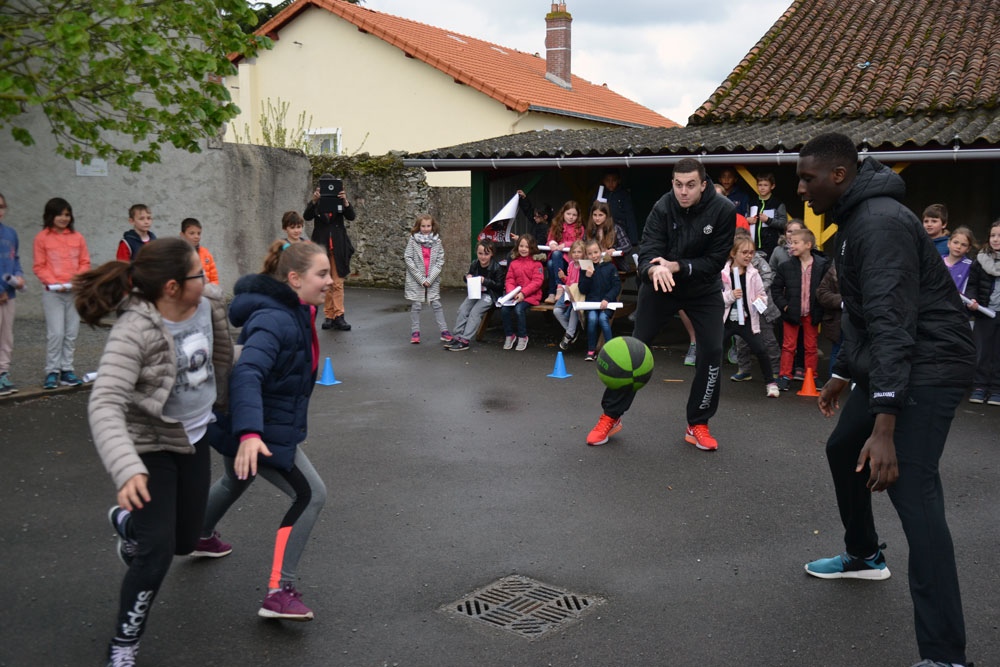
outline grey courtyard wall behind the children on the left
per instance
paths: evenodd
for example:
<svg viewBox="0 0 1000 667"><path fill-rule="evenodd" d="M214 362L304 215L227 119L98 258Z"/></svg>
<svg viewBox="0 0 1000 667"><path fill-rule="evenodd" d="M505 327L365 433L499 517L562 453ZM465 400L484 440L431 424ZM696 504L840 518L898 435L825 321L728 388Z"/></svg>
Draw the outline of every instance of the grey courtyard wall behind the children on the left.
<svg viewBox="0 0 1000 667"><path fill-rule="evenodd" d="M150 206L157 236L179 234L181 220L197 218L221 286L231 292L239 276L260 270L268 245L282 235L282 214L301 213L312 193L312 166L295 151L228 143L196 154L167 148L159 164L141 172L109 164L105 174L90 176L55 153L43 118L30 118L27 125L37 142L33 146L22 146L9 132L0 132L0 193L9 206L4 224L18 233L28 282L17 299L23 317L42 317L42 286L32 272L32 245L42 228L45 202L52 197L62 197L73 207L76 229L87 241L94 266L114 259L118 241L129 229L131 204ZM468 188L435 190L427 185L422 169L344 180L358 214L349 223L357 249L349 284L399 288L402 297L403 249L413 221L423 212L441 223L443 284L463 284L471 257ZM307 222L307 232L311 227Z"/></svg>

